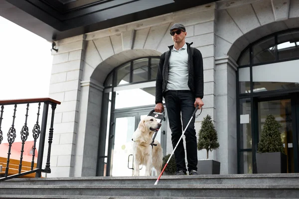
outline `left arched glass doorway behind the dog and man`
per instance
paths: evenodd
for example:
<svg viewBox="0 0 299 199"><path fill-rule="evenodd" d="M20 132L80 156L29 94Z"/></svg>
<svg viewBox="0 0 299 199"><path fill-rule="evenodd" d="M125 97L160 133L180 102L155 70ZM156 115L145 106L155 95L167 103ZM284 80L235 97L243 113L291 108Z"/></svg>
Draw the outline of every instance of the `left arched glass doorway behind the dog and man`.
<svg viewBox="0 0 299 199"><path fill-rule="evenodd" d="M159 57L130 60L116 67L104 82L97 176L132 176L132 135L155 105ZM167 116L156 139L166 148ZM163 150L164 153L166 150ZM144 168L141 171L144 171Z"/></svg>

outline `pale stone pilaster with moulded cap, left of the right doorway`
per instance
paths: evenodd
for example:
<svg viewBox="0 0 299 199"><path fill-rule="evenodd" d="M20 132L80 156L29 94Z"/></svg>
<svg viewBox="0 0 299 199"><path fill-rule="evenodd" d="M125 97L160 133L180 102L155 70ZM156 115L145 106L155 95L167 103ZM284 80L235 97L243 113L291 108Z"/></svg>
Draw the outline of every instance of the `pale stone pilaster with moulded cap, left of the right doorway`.
<svg viewBox="0 0 299 199"><path fill-rule="evenodd" d="M237 64L229 56L215 59L216 65L216 130L219 149L217 160L221 174L237 173L237 118L236 71Z"/></svg>

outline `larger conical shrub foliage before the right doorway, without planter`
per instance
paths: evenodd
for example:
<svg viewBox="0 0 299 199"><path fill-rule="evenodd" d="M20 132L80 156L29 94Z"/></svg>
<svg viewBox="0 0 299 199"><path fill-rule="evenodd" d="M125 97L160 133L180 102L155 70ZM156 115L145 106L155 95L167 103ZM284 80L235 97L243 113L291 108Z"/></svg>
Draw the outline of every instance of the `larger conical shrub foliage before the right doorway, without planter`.
<svg viewBox="0 0 299 199"><path fill-rule="evenodd" d="M272 114L268 114L258 143L258 153L282 152L284 145L280 132L281 125Z"/></svg>

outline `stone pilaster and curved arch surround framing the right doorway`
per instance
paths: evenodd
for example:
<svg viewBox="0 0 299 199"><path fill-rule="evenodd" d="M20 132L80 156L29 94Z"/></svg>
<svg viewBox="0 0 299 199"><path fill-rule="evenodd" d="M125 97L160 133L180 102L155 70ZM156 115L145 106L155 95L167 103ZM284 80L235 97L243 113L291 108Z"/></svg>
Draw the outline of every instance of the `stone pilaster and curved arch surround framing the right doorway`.
<svg viewBox="0 0 299 199"><path fill-rule="evenodd" d="M221 173L237 173L236 61L250 43L274 32L299 27L298 0L223 0L217 2L216 159Z"/></svg>

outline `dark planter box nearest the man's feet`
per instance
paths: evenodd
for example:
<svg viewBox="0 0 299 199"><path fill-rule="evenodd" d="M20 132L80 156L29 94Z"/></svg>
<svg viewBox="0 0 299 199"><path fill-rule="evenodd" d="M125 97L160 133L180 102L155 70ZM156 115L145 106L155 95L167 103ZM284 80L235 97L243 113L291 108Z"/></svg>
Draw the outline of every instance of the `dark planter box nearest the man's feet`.
<svg viewBox="0 0 299 199"><path fill-rule="evenodd" d="M220 174L220 162L215 160L198 160L197 173L205 174Z"/></svg>

